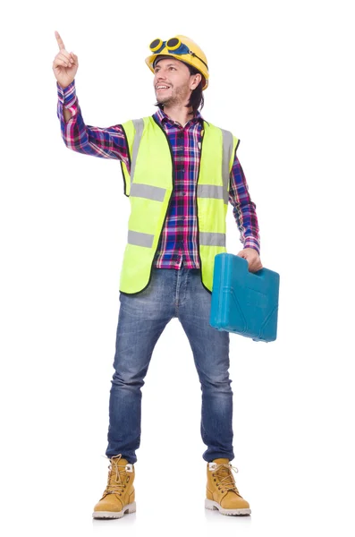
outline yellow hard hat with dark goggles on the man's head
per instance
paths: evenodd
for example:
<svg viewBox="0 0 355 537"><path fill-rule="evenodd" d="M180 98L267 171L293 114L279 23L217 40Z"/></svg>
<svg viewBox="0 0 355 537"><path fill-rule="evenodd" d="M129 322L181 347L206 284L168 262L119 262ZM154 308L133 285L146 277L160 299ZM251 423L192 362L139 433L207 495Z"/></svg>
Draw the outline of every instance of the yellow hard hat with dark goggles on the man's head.
<svg viewBox="0 0 355 537"><path fill-rule="evenodd" d="M192 65L202 74L205 79L205 85L202 90L206 90L209 77L207 57L192 39L182 35L175 36L167 41L157 38L150 43L149 48L153 54L146 58L146 64L151 72L154 72L154 61L158 55L173 56L185 64Z"/></svg>

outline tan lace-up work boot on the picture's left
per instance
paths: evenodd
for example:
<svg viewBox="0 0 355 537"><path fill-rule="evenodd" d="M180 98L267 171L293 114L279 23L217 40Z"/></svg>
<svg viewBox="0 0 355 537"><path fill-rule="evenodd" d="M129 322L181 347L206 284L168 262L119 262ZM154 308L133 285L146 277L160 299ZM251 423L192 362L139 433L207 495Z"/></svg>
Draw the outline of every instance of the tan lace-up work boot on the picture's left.
<svg viewBox="0 0 355 537"><path fill-rule="evenodd" d="M134 466L122 455L114 455L108 466L107 486L102 498L94 507L94 518L121 518L125 513L134 513Z"/></svg>

